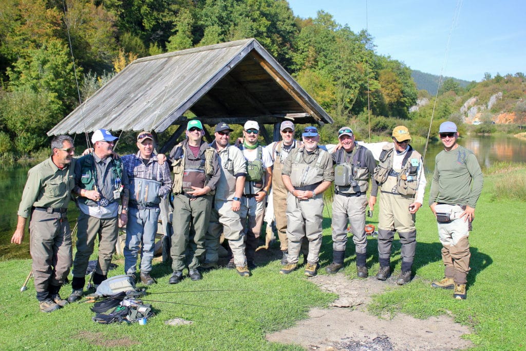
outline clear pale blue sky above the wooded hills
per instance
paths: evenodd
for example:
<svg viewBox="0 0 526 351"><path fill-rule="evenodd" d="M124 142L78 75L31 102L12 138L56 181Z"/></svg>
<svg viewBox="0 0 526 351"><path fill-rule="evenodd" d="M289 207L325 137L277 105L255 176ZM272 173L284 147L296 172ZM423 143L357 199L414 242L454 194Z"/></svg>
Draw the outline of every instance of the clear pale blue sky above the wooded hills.
<svg viewBox="0 0 526 351"><path fill-rule="evenodd" d="M378 54L411 69L477 82L485 72L526 74L523 0L288 2L302 18L322 9L355 33L367 28Z"/></svg>

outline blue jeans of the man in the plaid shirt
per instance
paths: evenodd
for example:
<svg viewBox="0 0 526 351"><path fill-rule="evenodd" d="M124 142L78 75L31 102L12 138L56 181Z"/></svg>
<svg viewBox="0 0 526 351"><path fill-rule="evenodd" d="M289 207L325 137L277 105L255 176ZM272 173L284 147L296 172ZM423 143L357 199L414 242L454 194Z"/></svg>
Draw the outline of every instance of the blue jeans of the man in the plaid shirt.
<svg viewBox="0 0 526 351"><path fill-rule="evenodd" d="M151 271L151 260L154 258L155 234L159 208L137 209L129 207L126 224L126 245L124 246L124 272L134 274L137 270L137 254L142 244L140 271Z"/></svg>

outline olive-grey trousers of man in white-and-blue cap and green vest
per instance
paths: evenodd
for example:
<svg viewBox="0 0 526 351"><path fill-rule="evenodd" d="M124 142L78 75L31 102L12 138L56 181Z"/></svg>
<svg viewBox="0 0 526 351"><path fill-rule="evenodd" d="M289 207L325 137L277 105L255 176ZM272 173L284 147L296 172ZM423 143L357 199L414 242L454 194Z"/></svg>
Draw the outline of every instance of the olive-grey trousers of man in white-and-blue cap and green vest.
<svg viewBox="0 0 526 351"><path fill-rule="evenodd" d="M73 276L84 278L89 256L93 254L95 239L98 237L98 262L95 273L106 276L118 236L118 219L97 218L80 211L77 219L77 253L73 262Z"/></svg>

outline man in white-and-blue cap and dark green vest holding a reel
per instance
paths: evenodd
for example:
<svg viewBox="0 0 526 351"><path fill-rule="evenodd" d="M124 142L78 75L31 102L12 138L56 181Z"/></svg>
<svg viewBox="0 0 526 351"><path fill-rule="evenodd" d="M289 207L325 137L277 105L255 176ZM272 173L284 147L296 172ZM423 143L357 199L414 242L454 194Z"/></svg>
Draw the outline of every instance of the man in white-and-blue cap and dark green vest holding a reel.
<svg viewBox="0 0 526 351"><path fill-rule="evenodd" d="M99 239L98 261L93 275L97 286L107 278L119 221L128 221L128 176L120 159L114 158L113 147L117 137L106 129L97 129L92 135L94 151L80 157L75 166L74 192L78 194L77 253L73 262L73 292L69 302L82 297L89 256L93 253L95 239ZM122 212L118 213L119 200Z"/></svg>

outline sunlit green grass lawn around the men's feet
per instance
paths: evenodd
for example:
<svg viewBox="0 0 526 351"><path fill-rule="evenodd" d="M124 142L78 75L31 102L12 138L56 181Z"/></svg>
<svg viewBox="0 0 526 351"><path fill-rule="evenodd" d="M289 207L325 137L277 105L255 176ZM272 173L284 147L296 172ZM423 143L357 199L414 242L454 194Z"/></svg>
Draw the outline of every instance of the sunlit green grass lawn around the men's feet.
<svg viewBox="0 0 526 351"><path fill-rule="evenodd" d="M430 287L431 280L442 278L443 265L436 222L424 204L417 214L418 246L413 266L416 277L406 286L375 296L370 312L382 316L403 312L417 318L451 314L457 322L473 328L473 334L466 338L472 340L475 349L526 348L526 293L522 280L526 276L526 202L494 194L495 185L506 184L510 175L519 181L526 179L526 168L504 169L484 177L470 235L472 269L468 275L467 300L454 300L452 290ZM378 208L371 223L377 224L377 214ZM332 259L327 210L324 215L320 274L325 274L324 267ZM376 239L369 238L368 253L370 274L376 274ZM346 273L353 279L356 276L353 245L348 245L347 256ZM118 268L112 275L123 274L122 259L116 263ZM398 239L393 245L391 266L395 268L394 274L400 272ZM278 274L279 261L256 268L250 278L218 269L206 273L199 282L185 279L177 285L167 284L170 267L156 264L152 273L160 278L147 291L166 293L147 295L144 299L155 300L150 303L157 315L145 326L99 325L91 320L94 314L87 304L72 304L50 314L38 312L33 281L25 292L20 292L31 260L0 262L0 269L4 293L0 302L1 349L301 349L269 343L265 334L294 325L306 318L309 308L326 306L336 297L310 283L302 269L288 276ZM63 297L69 292L70 286L65 286ZM194 324L164 323L176 317L192 320Z"/></svg>

